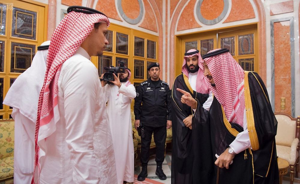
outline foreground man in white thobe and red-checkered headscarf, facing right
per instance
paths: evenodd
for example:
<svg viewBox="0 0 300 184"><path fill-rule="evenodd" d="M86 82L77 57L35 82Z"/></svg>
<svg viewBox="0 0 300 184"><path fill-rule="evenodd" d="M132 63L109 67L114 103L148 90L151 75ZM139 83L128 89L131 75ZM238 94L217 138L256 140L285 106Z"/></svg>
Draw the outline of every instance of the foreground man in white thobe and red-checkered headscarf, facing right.
<svg viewBox="0 0 300 184"><path fill-rule="evenodd" d="M35 183L117 183L113 141L98 70L110 22L73 6L53 32L38 106ZM38 167L36 167L38 166Z"/></svg>

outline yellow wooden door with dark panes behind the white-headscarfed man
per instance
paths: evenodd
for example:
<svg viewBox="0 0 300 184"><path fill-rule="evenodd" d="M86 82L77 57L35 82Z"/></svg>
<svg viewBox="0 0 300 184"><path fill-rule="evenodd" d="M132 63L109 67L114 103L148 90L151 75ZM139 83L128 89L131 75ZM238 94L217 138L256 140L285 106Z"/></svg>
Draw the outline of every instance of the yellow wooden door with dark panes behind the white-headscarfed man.
<svg viewBox="0 0 300 184"><path fill-rule="evenodd" d="M37 47L47 38L48 5L31 0L0 2L0 119L11 118L5 94L27 68Z"/></svg>

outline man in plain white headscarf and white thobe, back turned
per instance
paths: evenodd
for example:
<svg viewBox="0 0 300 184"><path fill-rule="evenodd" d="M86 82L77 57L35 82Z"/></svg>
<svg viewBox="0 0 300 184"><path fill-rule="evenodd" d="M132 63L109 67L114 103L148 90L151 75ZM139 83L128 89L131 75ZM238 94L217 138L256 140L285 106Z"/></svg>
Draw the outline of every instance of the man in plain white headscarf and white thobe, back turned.
<svg viewBox="0 0 300 184"><path fill-rule="evenodd" d="M38 47L31 66L13 82L3 104L13 107L15 120L14 183L30 183L35 156L35 122L38 111L38 96L41 92L50 41Z"/></svg>

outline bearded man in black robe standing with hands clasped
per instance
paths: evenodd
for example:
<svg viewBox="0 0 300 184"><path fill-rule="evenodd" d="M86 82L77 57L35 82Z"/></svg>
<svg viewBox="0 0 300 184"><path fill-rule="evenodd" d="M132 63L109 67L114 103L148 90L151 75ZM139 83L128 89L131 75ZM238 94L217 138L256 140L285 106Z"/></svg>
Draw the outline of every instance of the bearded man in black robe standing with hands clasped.
<svg viewBox="0 0 300 184"><path fill-rule="evenodd" d="M208 98L208 83L204 83L204 77L199 50L191 49L184 53L182 74L176 77L172 89L172 184L192 182L194 160L192 151L193 111L189 106L181 103L182 93L176 88L188 91L193 98L198 99L200 106L206 101L204 108L209 110L212 93ZM208 100L206 100L207 98ZM198 154L196 153L196 155Z"/></svg>

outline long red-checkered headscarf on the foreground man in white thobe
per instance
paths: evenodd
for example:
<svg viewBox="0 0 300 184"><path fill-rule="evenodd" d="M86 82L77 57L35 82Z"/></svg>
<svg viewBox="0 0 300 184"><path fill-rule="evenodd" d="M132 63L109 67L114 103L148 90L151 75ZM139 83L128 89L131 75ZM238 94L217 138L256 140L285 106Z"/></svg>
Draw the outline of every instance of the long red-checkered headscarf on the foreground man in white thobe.
<svg viewBox="0 0 300 184"><path fill-rule="evenodd" d="M94 29L94 24L106 22L108 18L102 14L85 14L75 11L68 13L59 23L51 37L51 44L47 55L46 75L38 102L38 115L35 130L35 166L38 165L39 143L55 131L55 124L59 120L58 112L58 77L61 65L71 57ZM32 183L38 183L34 174Z"/></svg>

